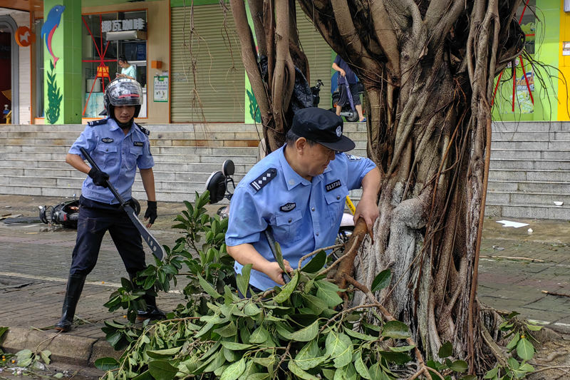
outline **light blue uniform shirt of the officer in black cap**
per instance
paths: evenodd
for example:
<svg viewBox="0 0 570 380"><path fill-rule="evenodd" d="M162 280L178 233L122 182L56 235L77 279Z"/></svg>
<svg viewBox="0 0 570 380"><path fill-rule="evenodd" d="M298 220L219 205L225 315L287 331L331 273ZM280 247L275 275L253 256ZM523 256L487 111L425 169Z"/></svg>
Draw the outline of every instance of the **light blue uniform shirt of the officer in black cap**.
<svg viewBox="0 0 570 380"><path fill-rule="evenodd" d="M307 253L334 244L348 190L361 188L362 179L373 168L375 164L368 158L337 153L324 173L309 181L291 168L284 147L279 148L259 161L237 185L226 244L252 244L261 256L274 262L263 233L271 225L284 259L296 268ZM268 173L273 178L269 181ZM235 263L237 273L242 267ZM261 290L277 285L254 269L249 283Z"/></svg>

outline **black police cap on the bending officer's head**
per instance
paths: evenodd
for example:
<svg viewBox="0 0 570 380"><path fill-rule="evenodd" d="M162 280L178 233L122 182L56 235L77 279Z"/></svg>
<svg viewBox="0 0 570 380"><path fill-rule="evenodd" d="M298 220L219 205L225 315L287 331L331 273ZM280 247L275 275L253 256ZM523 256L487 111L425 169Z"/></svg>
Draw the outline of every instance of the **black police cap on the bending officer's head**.
<svg viewBox="0 0 570 380"><path fill-rule="evenodd" d="M343 135L343 119L323 108L301 108L293 117L291 130L337 152L348 152L356 146L353 140Z"/></svg>

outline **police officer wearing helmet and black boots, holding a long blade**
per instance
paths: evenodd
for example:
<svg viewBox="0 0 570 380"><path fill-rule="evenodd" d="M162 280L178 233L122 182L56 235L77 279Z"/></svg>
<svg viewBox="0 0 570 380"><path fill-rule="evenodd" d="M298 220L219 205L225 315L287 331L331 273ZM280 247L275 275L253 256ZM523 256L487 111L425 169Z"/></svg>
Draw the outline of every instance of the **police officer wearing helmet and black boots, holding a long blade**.
<svg viewBox="0 0 570 380"><path fill-rule="evenodd" d="M150 154L149 132L134 122L142 104L140 84L129 78L115 79L105 88L104 103L108 118L88 123L66 156L66 163L88 177L81 188L76 247L71 259L63 313L56 324L56 329L62 332L71 329L83 284L95 267L106 231L109 231L131 279L146 267L140 233L120 208L106 181L113 184L123 199L132 200L131 188L138 167L148 200L145 212L147 227L157 217L152 173L155 162ZM90 168L84 162L80 148L88 151L100 170ZM138 312L140 318L165 317L156 306L154 292L147 293L142 299L147 307Z"/></svg>

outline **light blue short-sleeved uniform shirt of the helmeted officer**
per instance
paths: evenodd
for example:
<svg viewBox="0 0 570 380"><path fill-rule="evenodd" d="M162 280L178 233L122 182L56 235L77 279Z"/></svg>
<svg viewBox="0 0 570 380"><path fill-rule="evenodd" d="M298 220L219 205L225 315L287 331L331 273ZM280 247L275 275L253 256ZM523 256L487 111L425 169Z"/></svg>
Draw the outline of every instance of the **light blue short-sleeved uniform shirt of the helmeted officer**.
<svg viewBox="0 0 570 380"><path fill-rule="evenodd" d="M125 200L131 198L137 166L140 169L149 169L155 165L150 154L147 133L135 123L125 135L112 118L91 122L69 149L69 153L79 155L85 160L79 148L88 151L100 170L109 175L110 182ZM108 188L93 184L89 176L83 181L81 195L97 202L118 203Z"/></svg>

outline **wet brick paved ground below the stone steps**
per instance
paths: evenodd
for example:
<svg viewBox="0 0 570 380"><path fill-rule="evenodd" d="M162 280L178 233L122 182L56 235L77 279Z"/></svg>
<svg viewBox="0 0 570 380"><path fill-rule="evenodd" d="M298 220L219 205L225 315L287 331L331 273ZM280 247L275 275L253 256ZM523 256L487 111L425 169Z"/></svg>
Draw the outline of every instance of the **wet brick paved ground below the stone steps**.
<svg viewBox="0 0 570 380"><path fill-rule="evenodd" d="M49 197L0 195L0 215L18 212L34 216L38 205L55 205L60 201ZM180 236L170 230L170 225L183 208L181 203L160 203L159 219L152 232L161 244L172 245ZM570 223L527 222L534 230L530 235L528 227L506 228L495 220L485 220L479 297L497 309L515 310L523 317L570 327L570 298L541 292L570 294ZM0 222L0 326L26 332L49 329L58 321L75 237L74 230ZM528 257L544 262L497 256ZM147 262L152 262L150 253L147 253ZM97 354L92 349L87 361L113 354L108 344L102 342L104 334L100 328L104 319L123 316L121 312L109 313L103 304L120 283L120 277L125 276L123 263L106 235L98 264L88 276L78 304L76 315L83 324L66 334L69 339L93 339L88 342L100 343ZM175 293L160 294L158 299L163 309L171 309L179 302L183 299Z"/></svg>

